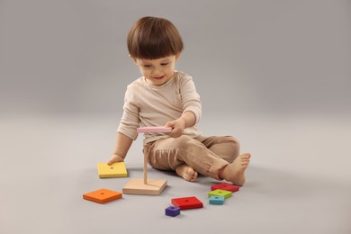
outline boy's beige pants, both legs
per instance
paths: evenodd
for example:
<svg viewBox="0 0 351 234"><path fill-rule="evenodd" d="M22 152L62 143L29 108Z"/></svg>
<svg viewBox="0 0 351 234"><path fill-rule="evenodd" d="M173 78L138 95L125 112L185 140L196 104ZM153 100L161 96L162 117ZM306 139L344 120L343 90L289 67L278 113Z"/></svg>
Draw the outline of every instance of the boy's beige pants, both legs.
<svg viewBox="0 0 351 234"><path fill-rule="evenodd" d="M183 135L179 138L158 139L144 145L148 164L160 170L175 170L186 164L202 175L220 180L219 172L239 153L238 139L225 137L199 137Z"/></svg>

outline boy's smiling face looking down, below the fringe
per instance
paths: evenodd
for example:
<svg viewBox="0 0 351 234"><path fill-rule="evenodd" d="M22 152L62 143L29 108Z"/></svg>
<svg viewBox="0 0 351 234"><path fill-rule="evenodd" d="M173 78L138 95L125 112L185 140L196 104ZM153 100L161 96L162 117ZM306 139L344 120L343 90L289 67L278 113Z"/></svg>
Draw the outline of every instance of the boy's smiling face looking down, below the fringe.
<svg viewBox="0 0 351 234"><path fill-rule="evenodd" d="M179 56L169 56L157 59L133 58L138 65L141 75L150 85L166 84L175 73L175 62Z"/></svg>

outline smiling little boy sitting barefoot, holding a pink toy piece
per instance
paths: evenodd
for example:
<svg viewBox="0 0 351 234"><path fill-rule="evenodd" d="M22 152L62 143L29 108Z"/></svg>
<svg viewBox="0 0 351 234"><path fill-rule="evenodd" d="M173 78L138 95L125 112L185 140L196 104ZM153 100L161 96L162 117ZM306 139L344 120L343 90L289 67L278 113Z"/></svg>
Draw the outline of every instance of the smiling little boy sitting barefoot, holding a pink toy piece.
<svg viewBox="0 0 351 234"><path fill-rule="evenodd" d="M142 77L127 87L115 150L108 164L124 160L138 136L137 128L166 126L172 131L144 134L149 165L174 170L190 182L201 173L244 184L251 156L238 156L238 140L231 136L204 137L197 130L202 105L193 78L175 71L184 47L175 25L166 19L143 17L131 27L127 44Z"/></svg>

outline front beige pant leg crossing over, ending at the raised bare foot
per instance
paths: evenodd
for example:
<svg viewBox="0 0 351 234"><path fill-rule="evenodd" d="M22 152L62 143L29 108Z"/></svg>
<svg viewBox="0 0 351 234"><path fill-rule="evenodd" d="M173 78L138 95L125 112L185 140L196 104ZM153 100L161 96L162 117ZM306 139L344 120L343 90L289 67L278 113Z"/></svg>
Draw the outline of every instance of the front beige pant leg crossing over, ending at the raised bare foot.
<svg viewBox="0 0 351 234"><path fill-rule="evenodd" d="M148 163L157 169L175 170L185 163L198 173L218 180L220 169L228 165L226 160L206 148L201 141L186 135L175 139L158 139L145 145L144 153Z"/></svg>

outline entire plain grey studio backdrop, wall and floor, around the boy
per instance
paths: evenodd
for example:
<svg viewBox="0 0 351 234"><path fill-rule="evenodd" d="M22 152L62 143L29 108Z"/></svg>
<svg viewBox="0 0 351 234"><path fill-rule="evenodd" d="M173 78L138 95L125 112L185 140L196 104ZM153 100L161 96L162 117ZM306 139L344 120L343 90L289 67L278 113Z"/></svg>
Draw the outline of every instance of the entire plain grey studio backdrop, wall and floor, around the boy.
<svg viewBox="0 0 351 234"><path fill-rule="evenodd" d="M210 178L151 168L168 179L160 196L81 198L142 176L141 138L129 178L98 179L95 165L140 76L125 38L145 15L183 35L176 68L202 97L202 132L234 135L253 155L224 206L206 203ZM350 1L0 0L0 232L350 233L350 41ZM205 208L163 214L190 195Z"/></svg>

